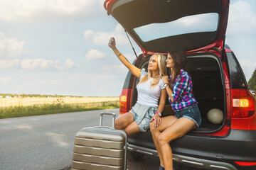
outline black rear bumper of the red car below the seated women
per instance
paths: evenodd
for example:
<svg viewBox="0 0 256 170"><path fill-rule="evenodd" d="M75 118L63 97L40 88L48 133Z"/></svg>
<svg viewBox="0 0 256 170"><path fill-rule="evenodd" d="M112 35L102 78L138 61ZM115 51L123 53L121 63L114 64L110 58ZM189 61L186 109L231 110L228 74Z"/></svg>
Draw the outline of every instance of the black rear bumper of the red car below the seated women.
<svg viewBox="0 0 256 170"><path fill-rule="evenodd" d="M151 133L128 139L130 151L157 155ZM170 143L174 161L205 169L252 170L235 162L256 162L256 130L230 130L225 137L190 133Z"/></svg>

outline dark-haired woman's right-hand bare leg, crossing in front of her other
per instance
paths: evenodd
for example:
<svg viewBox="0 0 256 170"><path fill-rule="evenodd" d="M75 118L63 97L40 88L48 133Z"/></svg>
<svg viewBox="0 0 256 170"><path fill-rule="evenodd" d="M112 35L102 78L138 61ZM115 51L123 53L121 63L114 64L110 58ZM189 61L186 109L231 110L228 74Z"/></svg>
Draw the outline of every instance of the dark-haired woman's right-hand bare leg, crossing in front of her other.
<svg viewBox="0 0 256 170"><path fill-rule="evenodd" d="M162 159L164 160L164 169L173 170L173 154L169 143L172 140L177 139L186 135L187 132L193 130L196 127L196 124L188 118L179 118L172 125L169 126L166 130L161 132L157 142L161 149Z"/></svg>

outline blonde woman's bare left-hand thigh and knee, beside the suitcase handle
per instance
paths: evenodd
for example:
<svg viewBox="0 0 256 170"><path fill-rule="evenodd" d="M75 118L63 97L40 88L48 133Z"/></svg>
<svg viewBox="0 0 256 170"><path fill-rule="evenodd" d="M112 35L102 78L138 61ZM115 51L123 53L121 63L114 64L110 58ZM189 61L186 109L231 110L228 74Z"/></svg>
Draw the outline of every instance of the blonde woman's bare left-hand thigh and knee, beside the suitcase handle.
<svg viewBox="0 0 256 170"><path fill-rule="evenodd" d="M134 121L132 113L127 112L119 116L114 122L114 128L118 130L124 130L129 124Z"/></svg>

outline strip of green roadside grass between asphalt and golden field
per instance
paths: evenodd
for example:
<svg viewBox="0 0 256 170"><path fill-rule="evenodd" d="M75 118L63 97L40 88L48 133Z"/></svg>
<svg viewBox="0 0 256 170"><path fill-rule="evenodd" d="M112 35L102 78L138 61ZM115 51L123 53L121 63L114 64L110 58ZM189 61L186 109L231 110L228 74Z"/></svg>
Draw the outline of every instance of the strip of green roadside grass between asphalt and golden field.
<svg viewBox="0 0 256 170"><path fill-rule="evenodd" d="M0 108L0 119L16 118L30 115L48 115L54 113L70 113L78 111L93 111L110 108L119 108L119 101L104 101L95 103L72 103L67 104L62 101L52 104L33 106L9 106Z"/></svg>

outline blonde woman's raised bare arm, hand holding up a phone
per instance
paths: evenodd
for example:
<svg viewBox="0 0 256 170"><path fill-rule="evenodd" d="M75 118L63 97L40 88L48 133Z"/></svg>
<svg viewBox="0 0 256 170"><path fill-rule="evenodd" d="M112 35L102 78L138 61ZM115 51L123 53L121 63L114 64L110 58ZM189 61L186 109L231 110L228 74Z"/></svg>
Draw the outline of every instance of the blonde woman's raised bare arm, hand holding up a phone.
<svg viewBox="0 0 256 170"><path fill-rule="evenodd" d="M125 67L127 67L127 69L129 69L130 72L132 72L132 74L134 74L135 77L140 77L141 74L141 69L137 68L136 66L134 66L134 64L131 64L125 57L124 55L121 54L121 52L119 52L119 50L117 50L117 47L115 45L115 40L114 38L110 38L110 42L109 42L109 47L113 50L114 54L117 55L117 57L119 58L119 60L125 65Z"/></svg>

